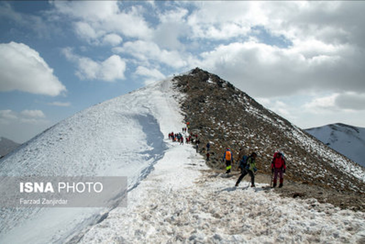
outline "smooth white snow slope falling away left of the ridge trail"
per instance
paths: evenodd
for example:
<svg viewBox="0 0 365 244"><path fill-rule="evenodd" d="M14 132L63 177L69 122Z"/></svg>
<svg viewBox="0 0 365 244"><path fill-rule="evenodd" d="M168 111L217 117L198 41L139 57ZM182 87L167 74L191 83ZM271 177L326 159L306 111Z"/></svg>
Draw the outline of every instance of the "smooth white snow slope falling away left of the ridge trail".
<svg viewBox="0 0 365 244"><path fill-rule="evenodd" d="M131 190L164 156L168 131L181 128L170 85L161 81L75 114L4 157L0 174L128 176ZM1 209L0 243L64 243L77 239L107 211Z"/></svg>

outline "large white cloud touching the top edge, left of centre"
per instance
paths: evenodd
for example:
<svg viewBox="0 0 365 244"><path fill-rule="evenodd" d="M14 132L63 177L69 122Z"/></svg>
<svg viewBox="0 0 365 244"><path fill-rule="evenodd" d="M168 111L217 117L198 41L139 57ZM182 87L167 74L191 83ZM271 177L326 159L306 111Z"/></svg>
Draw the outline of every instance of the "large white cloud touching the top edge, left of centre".
<svg viewBox="0 0 365 244"><path fill-rule="evenodd" d="M94 38L95 43L100 43L105 33L133 38L148 38L152 34L139 7L122 11L117 1L54 1L53 4L53 14L66 15L70 21L79 23L75 29L79 37Z"/></svg>

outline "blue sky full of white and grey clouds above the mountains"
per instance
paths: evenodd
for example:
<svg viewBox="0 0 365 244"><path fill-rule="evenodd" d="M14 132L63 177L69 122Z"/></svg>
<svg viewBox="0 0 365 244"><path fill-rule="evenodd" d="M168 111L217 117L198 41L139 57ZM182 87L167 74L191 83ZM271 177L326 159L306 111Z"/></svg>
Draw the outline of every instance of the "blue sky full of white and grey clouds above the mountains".
<svg viewBox="0 0 365 244"><path fill-rule="evenodd" d="M0 136L200 67L302 129L365 127L364 1L1 1Z"/></svg>

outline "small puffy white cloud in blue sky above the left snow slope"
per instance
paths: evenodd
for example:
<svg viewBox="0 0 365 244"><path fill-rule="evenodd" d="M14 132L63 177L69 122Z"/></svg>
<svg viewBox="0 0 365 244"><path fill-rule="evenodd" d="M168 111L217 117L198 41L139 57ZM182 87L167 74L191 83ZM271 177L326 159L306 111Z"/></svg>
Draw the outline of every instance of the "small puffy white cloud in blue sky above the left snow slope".
<svg viewBox="0 0 365 244"><path fill-rule="evenodd" d="M69 61L77 64L76 75L82 80L115 81L125 79L126 62L118 55L114 54L104 61L93 61L91 58L74 54L70 48L63 49L62 53Z"/></svg>

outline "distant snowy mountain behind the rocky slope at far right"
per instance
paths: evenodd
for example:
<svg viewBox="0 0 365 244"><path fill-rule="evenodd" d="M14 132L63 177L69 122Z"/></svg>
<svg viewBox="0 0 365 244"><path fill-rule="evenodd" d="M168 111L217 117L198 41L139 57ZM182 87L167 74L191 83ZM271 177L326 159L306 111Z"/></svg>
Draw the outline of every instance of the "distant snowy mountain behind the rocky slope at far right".
<svg viewBox="0 0 365 244"><path fill-rule="evenodd" d="M365 128L336 123L306 131L330 148L365 167Z"/></svg>

